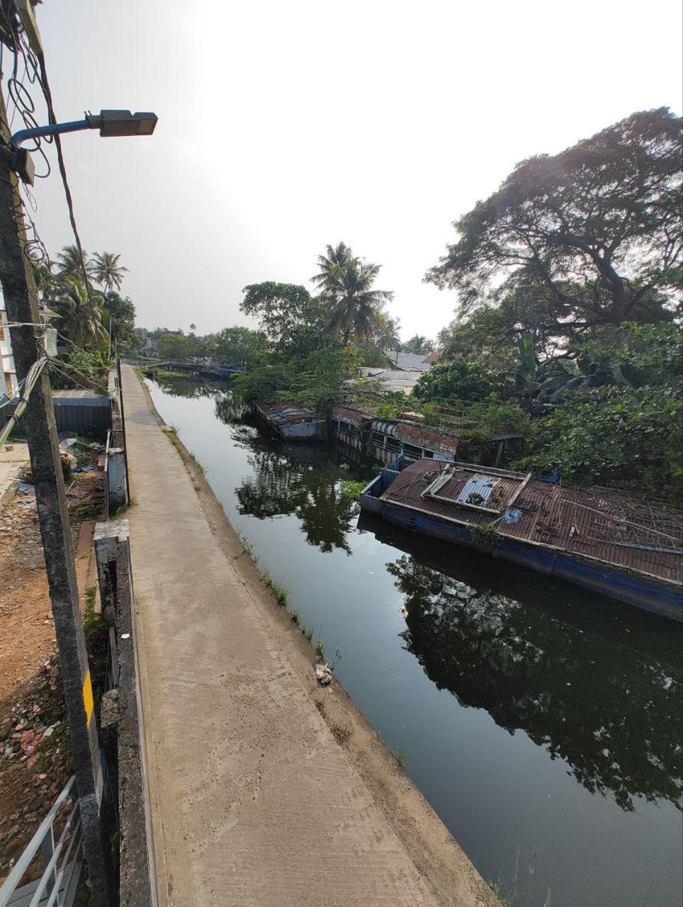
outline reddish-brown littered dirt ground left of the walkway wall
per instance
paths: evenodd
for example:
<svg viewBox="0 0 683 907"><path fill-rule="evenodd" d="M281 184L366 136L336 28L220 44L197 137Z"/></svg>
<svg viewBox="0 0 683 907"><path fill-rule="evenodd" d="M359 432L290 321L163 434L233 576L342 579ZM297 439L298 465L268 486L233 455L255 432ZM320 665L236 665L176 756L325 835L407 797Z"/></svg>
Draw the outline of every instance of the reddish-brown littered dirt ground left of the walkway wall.
<svg viewBox="0 0 683 907"><path fill-rule="evenodd" d="M96 467L98 448L77 452ZM82 608L93 607L94 518L103 502L99 471L73 473L69 509ZM54 622L33 486L0 508L0 883L72 773Z"/></svg>

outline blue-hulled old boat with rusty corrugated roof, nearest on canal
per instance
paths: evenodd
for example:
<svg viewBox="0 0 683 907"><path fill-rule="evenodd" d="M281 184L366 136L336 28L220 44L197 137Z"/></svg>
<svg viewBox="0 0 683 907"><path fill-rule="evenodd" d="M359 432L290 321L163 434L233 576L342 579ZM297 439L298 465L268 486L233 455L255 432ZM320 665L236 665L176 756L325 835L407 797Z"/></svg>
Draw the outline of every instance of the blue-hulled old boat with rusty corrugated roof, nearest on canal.
<svg viewBox="0 0 683 907"><path fill-rule="evenodd" d="M409 463L401 454L360 504L413 532L683 619L683 512L665 503L478 463Z"/></svg>

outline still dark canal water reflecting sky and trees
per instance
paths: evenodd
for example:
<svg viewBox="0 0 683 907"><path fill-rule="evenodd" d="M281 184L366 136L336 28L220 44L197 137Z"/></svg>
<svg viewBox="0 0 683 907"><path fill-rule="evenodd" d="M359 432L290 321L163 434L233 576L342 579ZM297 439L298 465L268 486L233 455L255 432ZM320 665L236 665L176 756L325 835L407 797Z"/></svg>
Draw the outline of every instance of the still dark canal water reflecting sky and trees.
<svg viewBox="0 0 683 907"><path fill-rule="evenodd" d="M679 907L681 635L361 516L332 445L151 383L235 529L483 877L515 907Z"/></svg>

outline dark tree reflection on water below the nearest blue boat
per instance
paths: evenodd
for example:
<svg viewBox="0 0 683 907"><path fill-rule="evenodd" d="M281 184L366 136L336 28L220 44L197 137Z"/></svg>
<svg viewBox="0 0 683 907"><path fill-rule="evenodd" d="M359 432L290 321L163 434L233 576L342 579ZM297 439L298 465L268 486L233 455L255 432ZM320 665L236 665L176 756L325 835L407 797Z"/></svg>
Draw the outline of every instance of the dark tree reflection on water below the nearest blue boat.
<svg viewBox="0 0 683 907"><path fill-rule="evenodd" d="M511 734L522 728L622 809L634 796L680 805L678 666L414 557L386 569L405 595L405 645L438 688Z"/></svg>

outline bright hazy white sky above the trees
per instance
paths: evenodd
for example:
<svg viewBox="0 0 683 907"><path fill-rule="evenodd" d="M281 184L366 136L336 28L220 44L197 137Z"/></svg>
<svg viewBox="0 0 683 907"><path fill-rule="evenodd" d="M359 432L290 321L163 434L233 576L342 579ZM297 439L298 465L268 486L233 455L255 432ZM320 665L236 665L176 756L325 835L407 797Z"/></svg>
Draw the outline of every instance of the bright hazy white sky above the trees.
<svg viewBox="0 0 683 907"><path fill-rule="evenodd" d="M86 249L122 253L138 323L249 322L241 288L306 283L327 242L382 264L404 338L452 221L517 161L629 113L681 112L679 0L44 0L54 107L151 110L151 138L63 138ZM37 166L37 162L36 162ZM54 254L59 177L37 180Z"/></svg>

